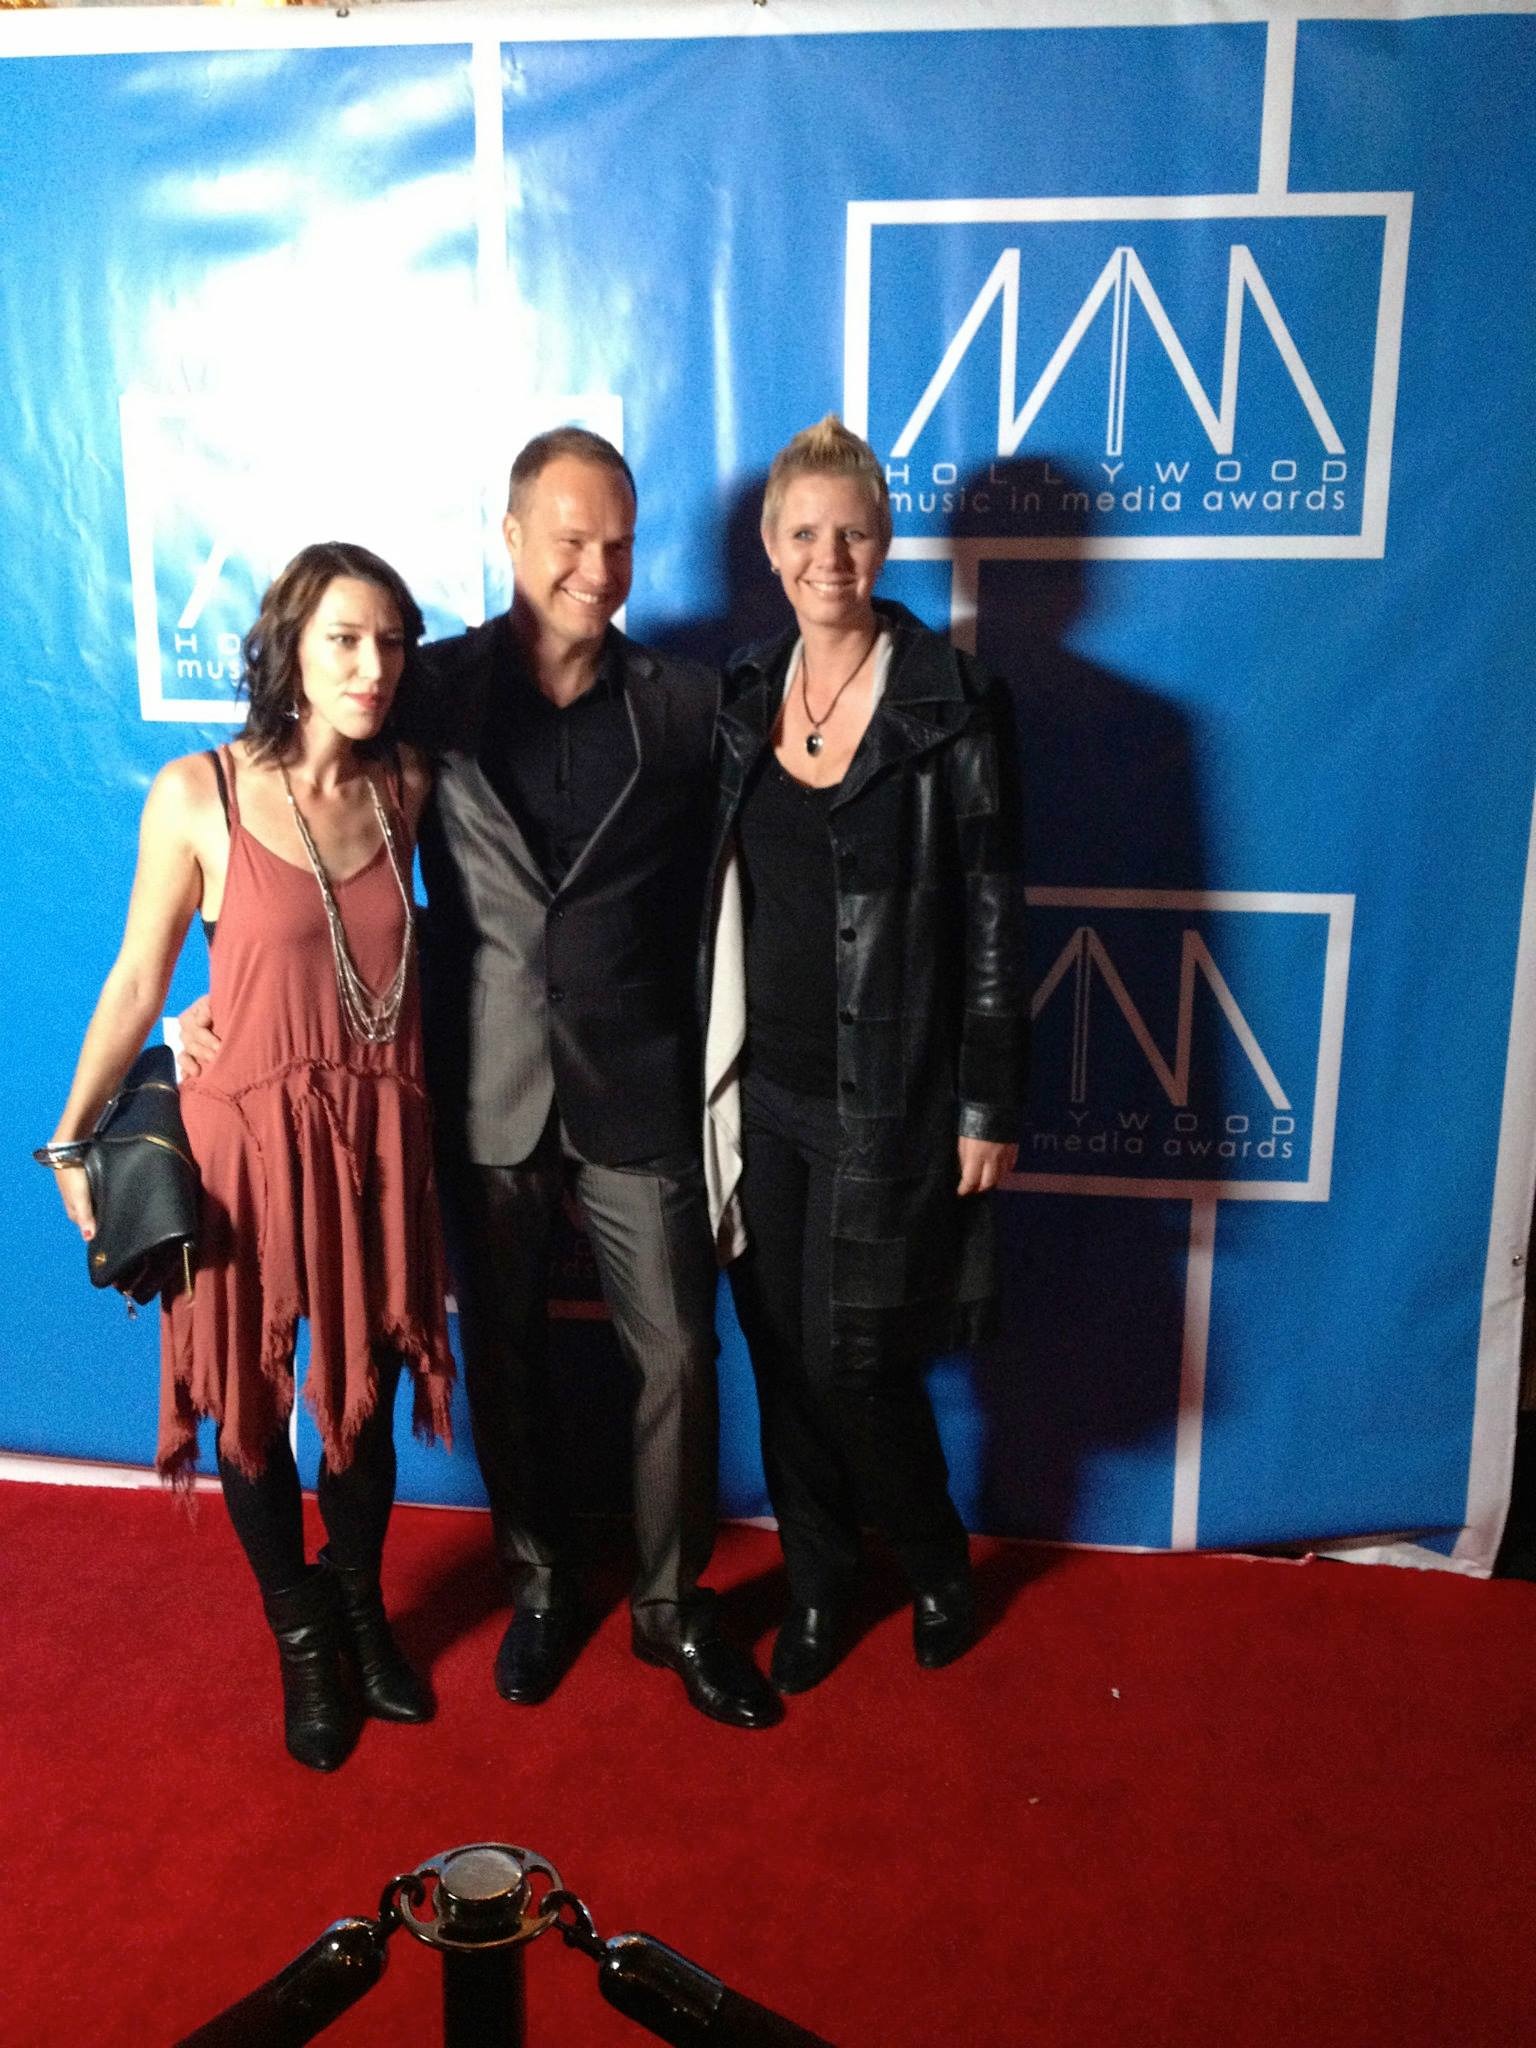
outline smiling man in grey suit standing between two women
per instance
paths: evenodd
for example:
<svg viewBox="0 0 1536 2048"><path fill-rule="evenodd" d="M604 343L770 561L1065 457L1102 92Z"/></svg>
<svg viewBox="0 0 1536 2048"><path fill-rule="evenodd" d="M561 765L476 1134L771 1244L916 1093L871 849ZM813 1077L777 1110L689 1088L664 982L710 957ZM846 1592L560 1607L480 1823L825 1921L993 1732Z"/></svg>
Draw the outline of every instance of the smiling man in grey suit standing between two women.
<svg viewBox="0 0 1536 2048"><path fill-rule="evenodd" d="M635 1378L633 1649L690 1702L778 1700L698 1587L715 1534L715 1257L692 1001L715 678L612 627L635 481L582 428L512 465L512 608L426 651L426 1044L457 1241L475 1452L514 1599L496 1659L535 1704L582 1640L549 1374L549 1243L569 1186Z"/></svg>

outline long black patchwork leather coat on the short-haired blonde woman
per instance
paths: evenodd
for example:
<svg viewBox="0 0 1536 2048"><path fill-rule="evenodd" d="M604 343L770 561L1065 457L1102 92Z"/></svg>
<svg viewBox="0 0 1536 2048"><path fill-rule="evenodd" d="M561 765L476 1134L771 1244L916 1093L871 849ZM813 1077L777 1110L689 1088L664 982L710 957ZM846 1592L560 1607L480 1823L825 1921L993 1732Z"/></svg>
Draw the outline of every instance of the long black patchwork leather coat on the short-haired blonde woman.
<svg viewBox="0 0 1536 2048"><path fill-rule="evenodd" d="M838 895L831 1327L844 1358L979 1333L991 1204L956 1137L1018 1139L1028 1049L1018 762L1008 692L881 604L891 670L829 807ZM715 868L770 745L795 635L739 655L719 721Z"/></svg>

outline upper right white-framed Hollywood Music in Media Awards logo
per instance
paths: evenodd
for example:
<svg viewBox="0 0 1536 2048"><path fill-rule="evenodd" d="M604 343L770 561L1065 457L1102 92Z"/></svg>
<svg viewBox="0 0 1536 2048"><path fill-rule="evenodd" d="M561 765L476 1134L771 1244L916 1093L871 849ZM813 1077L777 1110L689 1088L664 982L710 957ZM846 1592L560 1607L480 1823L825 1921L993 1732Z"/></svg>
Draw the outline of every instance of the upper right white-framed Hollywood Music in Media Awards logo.
<svg viewBox="0 0 1536 2048"><path fill-rule="evenodd" d="M897 555L1378 555L1409 195L848 209Z"/></svg>

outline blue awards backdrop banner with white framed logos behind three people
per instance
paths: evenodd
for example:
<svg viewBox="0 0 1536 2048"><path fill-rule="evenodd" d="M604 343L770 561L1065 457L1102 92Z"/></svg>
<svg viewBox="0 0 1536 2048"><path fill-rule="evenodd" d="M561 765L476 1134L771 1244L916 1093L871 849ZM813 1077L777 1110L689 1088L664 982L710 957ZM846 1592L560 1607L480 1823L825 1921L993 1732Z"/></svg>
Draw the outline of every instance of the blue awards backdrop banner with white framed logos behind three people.
<svg viewBox="0 0 1536 2048"><path fill-rule="evenodd" d="M434 633L485 616L508 457L580 418L639 477L629 631L719 655L780 623L762 473L836 408L885 588L1028 750L1006 1327L934 1368L971 1526L1485 1571L1536 1171L1532 76L1520 6L10 16L0 1444L150 1460L154 1321L27 1153L264 578L342 532ZM580 1245L561 1292L600 1395ZM469 1432L401 1491L479 1499Z"/></svg>

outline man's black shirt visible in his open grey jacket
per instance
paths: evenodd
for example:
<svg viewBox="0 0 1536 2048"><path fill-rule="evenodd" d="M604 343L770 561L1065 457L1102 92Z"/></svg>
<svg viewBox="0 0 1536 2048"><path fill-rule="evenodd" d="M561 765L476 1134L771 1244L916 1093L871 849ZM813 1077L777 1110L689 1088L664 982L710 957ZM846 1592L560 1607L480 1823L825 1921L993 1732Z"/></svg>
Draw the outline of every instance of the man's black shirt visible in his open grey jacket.
<svg viewBox="0 0 1536 2048"><path fill-rule="evenodd" d="M559 889L635 774L618 637L604 641L592 688L565 707L551 705L514 657L492 700L481 764L545 881Z"/></svg>

